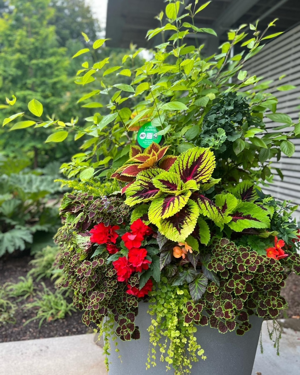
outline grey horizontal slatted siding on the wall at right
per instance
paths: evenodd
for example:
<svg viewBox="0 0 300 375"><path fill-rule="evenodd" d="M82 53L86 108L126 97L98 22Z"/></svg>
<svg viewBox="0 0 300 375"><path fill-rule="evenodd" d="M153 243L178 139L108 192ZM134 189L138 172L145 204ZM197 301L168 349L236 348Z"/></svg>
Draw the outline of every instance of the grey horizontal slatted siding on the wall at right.
<svg viewBox="0 0 300 375"><path fill-rule="evenodd" d="M278 98L277 112L290 115L295 122L299 120L300 25L268 43L259 54L245 64L244 68L248 76L263 77L262 82L273 80L267 91ZM284 74L286 76L279 81L279 77ZM290 91L276 89L287 84L296 86L296 89ZM265 118L265 123L267 129L282 125L273 123L269 118ZM275 175L273 183L263 186L263 190L278 199L287 199L300 205L300 139L294 139L293 143L296 147L293 157L282 156L279 162L276 159L272 160L272 168L280 168L284 180L281 181L281 178ZM300 207L296 216L300 219Z"/></svg>

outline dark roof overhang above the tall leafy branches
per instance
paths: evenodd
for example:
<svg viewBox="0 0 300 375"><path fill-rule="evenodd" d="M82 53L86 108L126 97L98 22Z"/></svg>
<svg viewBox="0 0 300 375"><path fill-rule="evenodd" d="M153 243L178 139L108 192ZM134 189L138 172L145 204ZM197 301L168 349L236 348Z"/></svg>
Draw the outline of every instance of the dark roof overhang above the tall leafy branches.
<svg viewBox="0 0 300 375"><path fill-rule="evenodd" d="M205 1L199 1L198 6ZM180 12L193 0L184 0ZM138 47L151 48L162 42L160 34L153 39L145 38L147 30L159 27L154 17L165 9L163 0L108 0L106 37L110 47L127 48L132 42ZM196 14L195 26L213 28L218 37L197 33L198 44L208 45L207 53L227 40L226 32L240 24L254 23L260 19L263 30L274 18L279 18L272 33L285 31L300 21L300 0L212 0L204 10ZM208 39L208 42L207 42ZM188 35L188 42L195 44L195 34Z"/></svg>

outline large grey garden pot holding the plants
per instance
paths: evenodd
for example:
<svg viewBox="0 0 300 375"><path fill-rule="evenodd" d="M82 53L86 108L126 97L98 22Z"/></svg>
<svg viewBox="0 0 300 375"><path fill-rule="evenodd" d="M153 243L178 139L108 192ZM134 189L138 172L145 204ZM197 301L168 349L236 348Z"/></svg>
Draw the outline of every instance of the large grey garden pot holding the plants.
<svg viewBox="0 0 300 375"><path fill-rule="evenodd" d="M159 351L156 354L157 365L146 370L149 350L147 328L151 323L147 308L148 303L139 303L136 317L136 326L141 332L139 340L118 340L119 353L114 351L114 344L111 343L108 375L174 375L172 370L166 373L167 363L159 361ZM209 326L198 326L195 336L207 359L199 358L198 362L193 363L190 375L251 375L263 319L252 316L250 323L252 328L244 336L237 336L235 332L223 335Z"/></svg>

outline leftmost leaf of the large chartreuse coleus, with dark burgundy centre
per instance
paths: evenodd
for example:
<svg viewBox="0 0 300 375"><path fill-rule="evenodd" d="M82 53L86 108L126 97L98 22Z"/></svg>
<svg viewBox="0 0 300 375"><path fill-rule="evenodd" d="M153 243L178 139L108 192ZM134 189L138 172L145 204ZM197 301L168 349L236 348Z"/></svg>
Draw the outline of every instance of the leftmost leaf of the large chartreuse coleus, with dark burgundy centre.
<svg viewBox="0 0 300 375"><path fill-rule="evenodd" d="M142 171L136 177L136 181L126 189L125 203L129 206L148 202L160 194L157 187L153 185L153 178L159 175L163 170L159 168L147 169Z"/></svg>

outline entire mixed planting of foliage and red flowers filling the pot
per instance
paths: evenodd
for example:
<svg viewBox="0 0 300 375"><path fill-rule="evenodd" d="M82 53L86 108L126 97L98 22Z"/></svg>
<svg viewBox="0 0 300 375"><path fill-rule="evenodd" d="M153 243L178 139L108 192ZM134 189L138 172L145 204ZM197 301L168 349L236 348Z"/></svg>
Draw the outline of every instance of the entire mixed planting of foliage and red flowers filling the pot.
<svg viewBox="0 0 300 375"><path fill-rule="evenodd" d="M135 318L139 302L148 302L146 367L163 361L175 375L206 359L194 335L200 326L247 335L252 315L275 319L287 307L280 290L289 273L300 274L297 207L263 188L275 172L282 177L270 160L292 156L300 124L277 113L267 83L243 70L274 36L274 22L263 33L250 25L252 37L246 25L230 30L220 53L206 57L185 37L214 34L193 22L209 2L195 0L178 16L181 3L170 0L167 22L160 13L161 27L148 32L165 40L149 61L136 66L142 49L131 46L124 66L106 69L108 58L83 64L76 83L91 91L79 102L101 108L96 100L110 98L86 126L36 120L56 126L47 142L85 136L81 152L62 165L73 178L62 180L73 191L55 236L63 287L74 289L84 323L104 332L107 354L118 351L118 339L140 338ZM231 52L238 45L248 51ZM267 128L265 117L282 125Z"/></svg>

